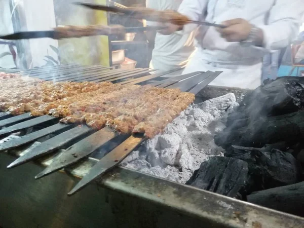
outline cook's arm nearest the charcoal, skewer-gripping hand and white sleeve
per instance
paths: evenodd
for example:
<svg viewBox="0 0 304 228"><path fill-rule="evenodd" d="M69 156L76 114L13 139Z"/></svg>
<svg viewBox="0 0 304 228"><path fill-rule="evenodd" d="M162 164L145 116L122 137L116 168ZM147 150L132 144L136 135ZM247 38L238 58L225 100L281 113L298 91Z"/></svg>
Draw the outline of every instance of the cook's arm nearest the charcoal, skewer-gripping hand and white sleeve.
<svg viewBox="0 0 304 228"><path fill-rule="evenodd" d="M257 25L255 45L265 51L275 51L290 45L299 32L304 14L303 0L277 0L272 7L267 25ZM253 25L242 18L224 21L227 27L218 29L228 42L242 42L248 39Z"/></svg>

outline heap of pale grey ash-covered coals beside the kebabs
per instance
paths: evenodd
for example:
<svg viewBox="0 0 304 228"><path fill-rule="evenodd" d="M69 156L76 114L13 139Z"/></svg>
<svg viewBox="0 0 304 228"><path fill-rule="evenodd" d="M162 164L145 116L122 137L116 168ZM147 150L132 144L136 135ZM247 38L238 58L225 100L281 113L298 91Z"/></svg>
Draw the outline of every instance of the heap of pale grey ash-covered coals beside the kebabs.
<svg viewBox="0 0 304 228"><path fill-rule="evenodd" d="M212 156L223 149L213 137L225 128L227 114L239 104L233 93L191 105L181 112L163 134L147 140L122 166L185 183Z"/></svg>

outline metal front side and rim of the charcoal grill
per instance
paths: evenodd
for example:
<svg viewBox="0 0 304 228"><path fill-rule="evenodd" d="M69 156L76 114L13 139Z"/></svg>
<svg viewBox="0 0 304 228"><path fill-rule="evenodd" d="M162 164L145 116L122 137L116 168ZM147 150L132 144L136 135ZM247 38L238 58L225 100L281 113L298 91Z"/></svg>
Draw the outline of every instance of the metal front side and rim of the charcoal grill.
<svg viewBox="0 0 304 228"><path fill-rule="evenodd" d="M116 168L78 194L66 193L96 164L40 180L44 167L0 154L0 226L7 227L304 227L304 219L199 189ZM50 159L44 161L49 164ZM72 175L71 175L72 174Z"/></svg>

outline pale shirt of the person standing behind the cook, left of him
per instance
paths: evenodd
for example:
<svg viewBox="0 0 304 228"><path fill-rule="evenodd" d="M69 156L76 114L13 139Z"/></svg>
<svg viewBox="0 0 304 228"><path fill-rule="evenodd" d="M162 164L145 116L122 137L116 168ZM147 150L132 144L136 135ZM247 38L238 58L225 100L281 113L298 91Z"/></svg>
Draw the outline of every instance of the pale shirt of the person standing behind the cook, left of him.
<svg viewBox="0 0 304 228"><path fill-rule="evenodd" d="M182 0L146 0L146 7L156 10L178 10ZM157 23L147 21L148 26ZM184 66L194 51L194 34L171 35L156 34L155 48L152 53L151 67L160 70L171 70Z"/></svg>

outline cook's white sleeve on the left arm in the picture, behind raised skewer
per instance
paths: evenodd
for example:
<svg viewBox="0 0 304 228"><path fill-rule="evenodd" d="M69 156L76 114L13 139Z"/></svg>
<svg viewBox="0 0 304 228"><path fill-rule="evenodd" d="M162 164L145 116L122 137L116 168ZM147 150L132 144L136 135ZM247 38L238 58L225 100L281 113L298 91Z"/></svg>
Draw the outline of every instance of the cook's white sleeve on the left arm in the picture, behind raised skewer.
<svg viewBox="0 0 304 228"><path fill-rule="evenodd" d="M199 21L205 15L208 0L183 0L179 6L178 12L187 16L190 20ZM190 33L194 31L198 25L184 25L183 32Z"/></svg>

